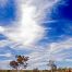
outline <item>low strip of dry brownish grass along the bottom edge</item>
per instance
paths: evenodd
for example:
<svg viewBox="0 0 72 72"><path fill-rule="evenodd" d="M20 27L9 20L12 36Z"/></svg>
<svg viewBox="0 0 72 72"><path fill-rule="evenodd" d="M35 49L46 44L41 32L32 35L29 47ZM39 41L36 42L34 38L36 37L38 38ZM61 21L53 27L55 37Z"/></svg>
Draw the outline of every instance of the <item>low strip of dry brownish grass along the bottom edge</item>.
<svg viewBox="0 0 72 72"><path fill-rule="evenodd" d="M0 72L51 72L51 70L0 70ZM72 72L72 69L58 69L57 71L52 72Z"/></svg>

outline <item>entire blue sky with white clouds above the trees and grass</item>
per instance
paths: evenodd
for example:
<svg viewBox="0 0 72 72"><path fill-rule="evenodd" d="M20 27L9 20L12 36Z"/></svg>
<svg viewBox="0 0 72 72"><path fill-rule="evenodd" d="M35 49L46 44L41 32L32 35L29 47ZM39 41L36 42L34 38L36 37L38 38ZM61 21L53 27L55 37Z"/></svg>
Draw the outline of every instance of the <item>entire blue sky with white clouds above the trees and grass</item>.
<svg viewBox="0 0 72 72"><path fill-rule="evenodd" d="M27 69L72 68L72 0L0 0L0 69L16 55ZM3 65L4 64L4 65Z"/></svg>

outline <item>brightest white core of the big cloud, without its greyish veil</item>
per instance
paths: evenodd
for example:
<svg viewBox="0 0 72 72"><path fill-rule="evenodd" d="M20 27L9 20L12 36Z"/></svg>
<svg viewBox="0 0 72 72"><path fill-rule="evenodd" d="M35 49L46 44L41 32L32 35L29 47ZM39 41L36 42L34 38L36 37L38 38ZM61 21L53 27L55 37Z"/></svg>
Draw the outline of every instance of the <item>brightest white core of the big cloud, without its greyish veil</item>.
<svg viewBox="0 0 72 72"><path fill-rule="evenodd" d="M21 43L24 46L34 45L44 37L44 27L34 19L35 7L21 4L20 24L13 28L7 28L5 35L9 39Z"/></svg>

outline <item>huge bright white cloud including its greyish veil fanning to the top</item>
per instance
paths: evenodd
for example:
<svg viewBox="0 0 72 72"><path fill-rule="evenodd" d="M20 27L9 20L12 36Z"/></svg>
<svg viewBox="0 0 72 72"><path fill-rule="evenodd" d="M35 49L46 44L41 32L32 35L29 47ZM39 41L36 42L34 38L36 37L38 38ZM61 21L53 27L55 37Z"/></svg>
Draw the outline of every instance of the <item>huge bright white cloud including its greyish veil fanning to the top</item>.
<svg viewBox="0 0 72 72"><path fill-rule="evenodd" d="M22 44L24 47L34 46L45 36L45 27L41 26L39 22L45 19L46 12L50 15L50 9L57 1L58 0L17 1L19 21L13 22L15 25L13 24L12 27L3 27L5 32L2 33L5 34L10 40Z"/></svg>

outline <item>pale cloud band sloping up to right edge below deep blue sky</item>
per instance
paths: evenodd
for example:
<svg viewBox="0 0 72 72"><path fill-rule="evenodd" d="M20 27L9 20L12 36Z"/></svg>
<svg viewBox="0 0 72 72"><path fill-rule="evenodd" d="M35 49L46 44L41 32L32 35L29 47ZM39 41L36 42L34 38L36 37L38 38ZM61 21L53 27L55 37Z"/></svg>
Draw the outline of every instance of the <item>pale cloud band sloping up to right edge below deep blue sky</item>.
<svg viewBox="0 0 72 72"><path fill-rule="evenodd" d="M50 51L51 52L59 52L63 49L70 49L72 48L72 38L68 38L65 40L59 41L59 43L52 43L50 45Z"/></svg>

